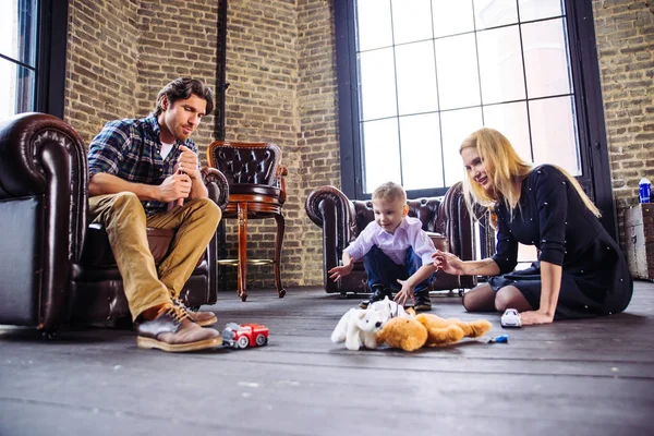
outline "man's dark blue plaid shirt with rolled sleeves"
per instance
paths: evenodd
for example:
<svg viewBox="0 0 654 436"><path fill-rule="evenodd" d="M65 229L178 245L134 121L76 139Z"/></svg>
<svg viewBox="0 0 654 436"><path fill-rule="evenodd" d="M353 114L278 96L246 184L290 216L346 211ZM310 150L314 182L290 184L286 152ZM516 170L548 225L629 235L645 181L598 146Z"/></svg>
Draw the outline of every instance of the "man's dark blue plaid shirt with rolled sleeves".
<svg viewBox="0 0 654 436"><path fill-rule="evenodd" d="M166 159L161 158L159 123L154 114L136 120L109 121L90 142L88 177L106 172L129 182L159 185L172 175L181 145L197 153L193 141L177 140ZM141 203L148 216L167 209L166 203Z"/></svg>

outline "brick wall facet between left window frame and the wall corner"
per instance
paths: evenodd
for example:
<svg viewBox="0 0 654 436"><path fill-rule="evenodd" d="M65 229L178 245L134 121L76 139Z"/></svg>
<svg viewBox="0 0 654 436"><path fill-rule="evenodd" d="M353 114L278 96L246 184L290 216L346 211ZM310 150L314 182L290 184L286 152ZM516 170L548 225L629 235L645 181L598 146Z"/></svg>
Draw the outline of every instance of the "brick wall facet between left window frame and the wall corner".
<svg viewBox="0 0 654 436"><path fill-rule="evenodd" d="M135 114L137 2L71 0L64 118L86 144L106 121Z"/></svg>

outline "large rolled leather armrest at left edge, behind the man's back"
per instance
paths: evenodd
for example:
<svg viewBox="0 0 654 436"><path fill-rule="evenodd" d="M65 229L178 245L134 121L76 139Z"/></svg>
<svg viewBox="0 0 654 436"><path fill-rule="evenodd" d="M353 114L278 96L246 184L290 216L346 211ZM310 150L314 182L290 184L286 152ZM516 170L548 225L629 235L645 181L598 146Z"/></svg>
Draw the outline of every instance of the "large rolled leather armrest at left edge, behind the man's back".
<svg viewBox="0 0 654 436"><path fill-rule="evenodd" d="M3 256L14 256L15 250L33 256L31 268L39 275L33 287L38 303L29 308L29 322L43 329L53 328L68 316L70 271L80 259L86 231L86 148L64 121L31 112L0 123L0 199L32 197L36 204L36 223L22 230L33 234L36 243L3 250L0 275L12 277L15 272L3 269L12 262L4 261L17 262Z"/></svg>

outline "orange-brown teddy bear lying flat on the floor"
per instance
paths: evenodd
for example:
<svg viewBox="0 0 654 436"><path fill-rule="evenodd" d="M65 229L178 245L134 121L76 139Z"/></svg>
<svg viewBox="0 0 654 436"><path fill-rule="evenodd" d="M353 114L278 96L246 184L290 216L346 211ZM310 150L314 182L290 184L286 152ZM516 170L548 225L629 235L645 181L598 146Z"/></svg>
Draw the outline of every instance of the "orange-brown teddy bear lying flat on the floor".
<svg viewBox="0 0 654 436"><path fill-rule="evenodd" d="M492 328L486 319L464 323L460 319L444 319L432 314L420 314L415 318L392 318L377 332L377 343L390 348L415 351L422 347L440 347L459 342L464 337L477 338Z"/></svg>

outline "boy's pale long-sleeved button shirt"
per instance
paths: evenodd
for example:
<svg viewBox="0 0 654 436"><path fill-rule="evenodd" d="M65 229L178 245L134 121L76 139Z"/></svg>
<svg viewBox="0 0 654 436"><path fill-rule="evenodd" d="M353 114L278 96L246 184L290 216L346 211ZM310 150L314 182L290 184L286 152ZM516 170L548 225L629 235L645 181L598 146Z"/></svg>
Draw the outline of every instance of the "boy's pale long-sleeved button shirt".
<svg viewBox="0 0 654 436"><path fill-rule="evenodd" d="M432 254L436 252L434 243L422 229L422 221L413 217L402 218L392 234L379 227L377 221L371 221L344 252L356 261L365 256L373 245L377 245L397 265L404 264L409 247L422 258L423 265L431 264Z"/></svg>

